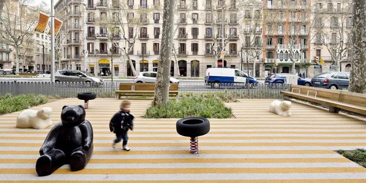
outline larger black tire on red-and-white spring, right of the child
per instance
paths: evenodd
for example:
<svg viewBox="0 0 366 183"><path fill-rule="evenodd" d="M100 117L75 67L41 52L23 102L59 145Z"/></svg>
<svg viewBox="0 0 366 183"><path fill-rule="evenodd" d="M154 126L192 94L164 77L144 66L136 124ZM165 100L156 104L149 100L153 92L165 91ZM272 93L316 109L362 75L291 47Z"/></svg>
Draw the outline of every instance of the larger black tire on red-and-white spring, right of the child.
<svg viewBox="0 0 366 183"><path fill-rule="evenodd" d="M210 122L205 118L188 117L178 120L177 132L184 137L198 137L210 131Z"/></svg>

